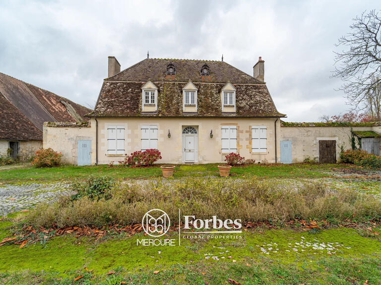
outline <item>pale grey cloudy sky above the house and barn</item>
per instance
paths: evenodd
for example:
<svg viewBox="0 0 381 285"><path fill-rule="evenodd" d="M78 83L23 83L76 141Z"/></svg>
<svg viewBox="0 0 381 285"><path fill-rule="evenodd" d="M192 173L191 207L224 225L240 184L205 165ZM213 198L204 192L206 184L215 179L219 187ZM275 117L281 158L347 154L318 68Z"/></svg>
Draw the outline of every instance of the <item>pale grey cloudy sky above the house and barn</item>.
<svg viewBox="0 0 381 285"><path fill-rule="evenodd" d="M94 106L107 56L122 69L150 57L220 60L265 81L286 121L346 112L330 78L352 18L380 9L354 1L0 1L0 72Z"/></svg>

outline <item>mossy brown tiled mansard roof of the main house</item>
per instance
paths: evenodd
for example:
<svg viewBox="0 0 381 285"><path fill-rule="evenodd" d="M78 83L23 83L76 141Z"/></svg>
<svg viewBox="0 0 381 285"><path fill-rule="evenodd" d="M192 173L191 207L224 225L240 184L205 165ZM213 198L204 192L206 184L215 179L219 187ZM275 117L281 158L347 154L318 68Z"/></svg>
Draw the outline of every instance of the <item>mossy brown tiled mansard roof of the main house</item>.
<svg viewBox="0 0 381 285"><path fill-rule="evenodd" d="M167 75L168 64L176 75ZM201 76L207 64L210 76ZM142 86L158 88L157 112L142 113ZM197 113L183 112L183 88L197 88ZM221 90L230 82L236 89L236 112L223 113ZM223 61L147 58L105 79L89 117L284 117L277 111L264 82Z"/></svg>

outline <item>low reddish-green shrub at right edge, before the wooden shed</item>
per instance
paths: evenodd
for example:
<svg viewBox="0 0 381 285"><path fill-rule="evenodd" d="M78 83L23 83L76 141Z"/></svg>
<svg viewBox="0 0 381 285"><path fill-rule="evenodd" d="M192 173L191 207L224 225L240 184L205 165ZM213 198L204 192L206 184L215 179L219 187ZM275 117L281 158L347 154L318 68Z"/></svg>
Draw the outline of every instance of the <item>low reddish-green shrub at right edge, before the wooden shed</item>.
<svg viewBox="0 0 381 285"><path fill-rule="evenodd" d="M340 153L341 162L353 163L367 168L381 168L381 157L365 150L348 149Z"/></svg>

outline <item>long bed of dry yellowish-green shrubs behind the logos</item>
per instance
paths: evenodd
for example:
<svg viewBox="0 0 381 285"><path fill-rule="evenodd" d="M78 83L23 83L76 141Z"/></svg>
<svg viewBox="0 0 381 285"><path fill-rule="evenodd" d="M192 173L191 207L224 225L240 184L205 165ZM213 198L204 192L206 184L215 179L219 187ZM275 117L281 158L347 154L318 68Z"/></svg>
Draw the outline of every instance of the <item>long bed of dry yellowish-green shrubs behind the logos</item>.
<svg viewBox="0 0 381 285"><path fill-rule="evenodd" d="M56 203L39 204L28 213L26 223L59 227L131 225L141 223L151 209L164 210L171 220L182 213L197 219L241 219L246 222L283 223L290 219L381 221L381 201L354 190L329 190L323 183L285 185L256 179L194 179L168 182L117 182L110 198L76 200L61 198Z"/></svg>

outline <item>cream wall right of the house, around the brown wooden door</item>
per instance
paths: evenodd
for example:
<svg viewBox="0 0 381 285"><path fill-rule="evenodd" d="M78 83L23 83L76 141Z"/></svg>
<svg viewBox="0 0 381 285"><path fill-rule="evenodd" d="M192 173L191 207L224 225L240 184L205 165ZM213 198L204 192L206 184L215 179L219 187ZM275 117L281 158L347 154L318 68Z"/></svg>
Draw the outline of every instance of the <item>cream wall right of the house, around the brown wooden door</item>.
<svg viewBox="0 0 381 285"><path fill-rule="evenodd" d="M290 125L291 124L291 125ZM292 162L303 162L306 158L319 160L319 141L336 141L336 159L340 160L341 146L351 148L353 131L374 131L381 133L381 126L353 124L337 126L335 124L285 123L280 128L280 141L291 141ZM281 148L282 152L282 148Z"/></svg>

